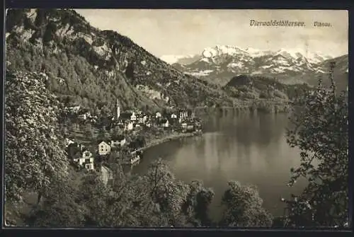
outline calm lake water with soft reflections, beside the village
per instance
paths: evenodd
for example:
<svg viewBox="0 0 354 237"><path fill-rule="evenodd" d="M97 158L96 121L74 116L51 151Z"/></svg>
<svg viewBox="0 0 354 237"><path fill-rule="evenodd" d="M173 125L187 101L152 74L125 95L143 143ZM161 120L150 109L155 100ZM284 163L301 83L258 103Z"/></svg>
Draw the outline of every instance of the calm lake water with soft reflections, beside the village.
<svg viewBox="0 0 354 237"><path fill-rule="evenodd" d="M220 201L229 180L256 185L263 206L273 215L283 214L281 197L298 194L305 183L287 187L290 168L299 165L299 151L285 139L285 114L229 111L205 117L205 134L169 141L148 149L132 170L145 173L161 157L169 161L176 178L185 182L202 180L215 191L210 213L220 215Z"/></svg>

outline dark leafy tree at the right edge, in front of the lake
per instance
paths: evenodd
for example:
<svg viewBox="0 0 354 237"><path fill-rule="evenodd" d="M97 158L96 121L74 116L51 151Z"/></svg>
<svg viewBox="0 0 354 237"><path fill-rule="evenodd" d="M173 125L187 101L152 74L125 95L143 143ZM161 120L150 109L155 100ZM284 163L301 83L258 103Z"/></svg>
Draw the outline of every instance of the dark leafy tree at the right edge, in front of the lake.
<svg viewBox="0 0 354 237"><path fill-rule="evenodd" d="M301 165L292 169L309 185L287 200L287 225L343 226L348 223L348 94L322 85L296 103L287 142L301 150Z"/></svg>

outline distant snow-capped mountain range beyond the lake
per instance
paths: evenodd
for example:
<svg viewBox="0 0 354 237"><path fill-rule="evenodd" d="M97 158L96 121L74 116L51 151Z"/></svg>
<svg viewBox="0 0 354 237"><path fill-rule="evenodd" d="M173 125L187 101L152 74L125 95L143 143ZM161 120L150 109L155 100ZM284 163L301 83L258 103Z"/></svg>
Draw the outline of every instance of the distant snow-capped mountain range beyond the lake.
<svg viewBox="0 0 354 237"><path fill-rule="evenodd" d="M324 67L331 56L302 49L280 49L275 51L242 49L230 45L207 47L201 58L190 64L173 64L186 74L224 85L237 74L271 76L284 83L299 83L307 75L324 74Z"/></svg>

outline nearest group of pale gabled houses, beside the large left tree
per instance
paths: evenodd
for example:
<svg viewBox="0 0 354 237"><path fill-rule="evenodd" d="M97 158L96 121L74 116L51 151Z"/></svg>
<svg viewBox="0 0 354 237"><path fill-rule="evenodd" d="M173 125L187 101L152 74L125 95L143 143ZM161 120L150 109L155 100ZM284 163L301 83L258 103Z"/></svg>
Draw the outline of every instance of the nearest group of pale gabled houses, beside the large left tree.
<svg viewBox="0 0 354 237"><path fill-rule="evenodd" d="M124 146L126 143L126 139L123 136L118 136L115 139L110 141L100 141L98 143L97 150L89 149L83 144L78 144L71 139L65 139L68 156L72 158L72 161L79 164L79 166L83 166L87 170L94 170L94 156L93 154L96 153L99 156L105 156L110 154L110 151L113 147L120 147Z"/></svg>

